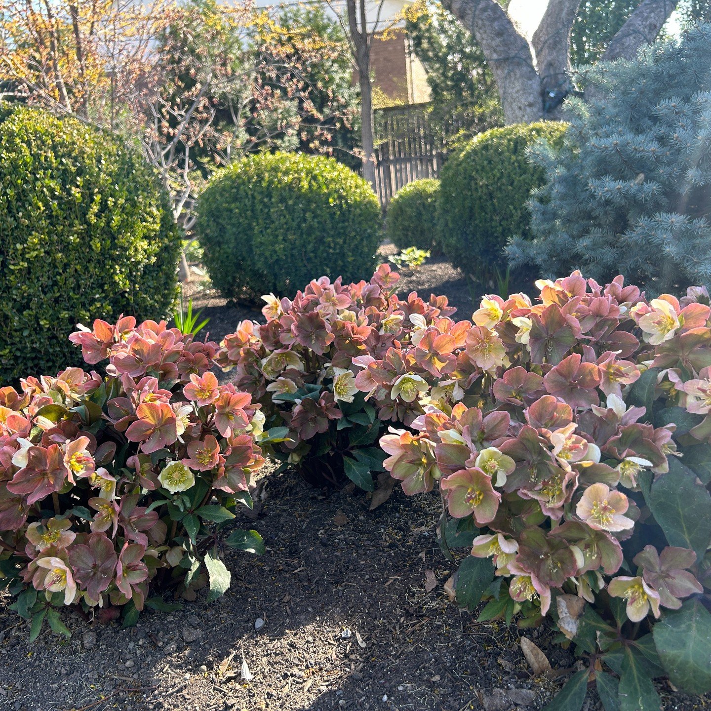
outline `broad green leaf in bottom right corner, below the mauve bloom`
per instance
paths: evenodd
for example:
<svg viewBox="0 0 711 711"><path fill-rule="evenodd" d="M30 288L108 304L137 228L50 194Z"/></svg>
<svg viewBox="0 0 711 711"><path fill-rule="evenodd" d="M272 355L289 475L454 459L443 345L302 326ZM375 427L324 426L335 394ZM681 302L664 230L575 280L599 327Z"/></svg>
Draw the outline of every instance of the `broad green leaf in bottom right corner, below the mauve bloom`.
<svg viewBox="0 0 711 711"><path fill-rule="evenodd" d="M665 611L653 629L662 666L671 682L690 694L711 691L711 612L698 599Z"/></svg>

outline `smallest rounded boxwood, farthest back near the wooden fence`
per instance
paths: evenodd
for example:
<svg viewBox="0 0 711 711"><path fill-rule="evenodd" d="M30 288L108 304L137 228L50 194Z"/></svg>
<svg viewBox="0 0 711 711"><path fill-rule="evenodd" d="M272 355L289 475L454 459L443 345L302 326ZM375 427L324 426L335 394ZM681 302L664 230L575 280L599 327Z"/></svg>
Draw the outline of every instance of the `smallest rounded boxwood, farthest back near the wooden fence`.
<svg viewBox="0 0 711 711"><path fill-rule="evenodd" d="M395 193L387 205L385 225L387 237L397 249L417 247L437 252L437 196L439 181L434 178L412 181Z"/></svg>

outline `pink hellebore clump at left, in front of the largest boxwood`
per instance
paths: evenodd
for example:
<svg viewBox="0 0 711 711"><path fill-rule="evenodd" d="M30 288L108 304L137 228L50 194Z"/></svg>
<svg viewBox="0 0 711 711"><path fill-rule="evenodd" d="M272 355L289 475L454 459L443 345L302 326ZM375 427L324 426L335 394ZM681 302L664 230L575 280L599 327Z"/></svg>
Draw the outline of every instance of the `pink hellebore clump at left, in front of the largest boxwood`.
<svg viewBox="0 0 711 711"><path fill-rule="evenodd" d="M218 532L251 505L263 461L260 406L218 385L217 344L133 317L79 328L70 340L86 363L108 359L105 377L68 368L0 389L0 571L33 638L45 618L68 634L61 605L107 619L124 606L133 624L165 606L151 588L223 594ZM225 543L263 548L255 531Z"/></svg>

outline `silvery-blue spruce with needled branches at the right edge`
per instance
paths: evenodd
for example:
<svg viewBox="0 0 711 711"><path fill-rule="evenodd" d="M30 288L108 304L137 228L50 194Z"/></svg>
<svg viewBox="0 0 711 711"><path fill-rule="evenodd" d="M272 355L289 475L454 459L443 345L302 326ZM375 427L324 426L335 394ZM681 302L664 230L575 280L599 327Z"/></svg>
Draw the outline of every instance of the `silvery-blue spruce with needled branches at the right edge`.
<svg viewBox="0 0 711 711"><path fill-rule="evenodd" d="M587 72L562 149L537 146L548 182L533 195L535 240L511 263L545 276L624 274L648 295L711 284L711 25L635 62Z"/></svg>

